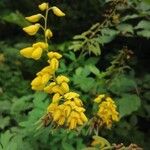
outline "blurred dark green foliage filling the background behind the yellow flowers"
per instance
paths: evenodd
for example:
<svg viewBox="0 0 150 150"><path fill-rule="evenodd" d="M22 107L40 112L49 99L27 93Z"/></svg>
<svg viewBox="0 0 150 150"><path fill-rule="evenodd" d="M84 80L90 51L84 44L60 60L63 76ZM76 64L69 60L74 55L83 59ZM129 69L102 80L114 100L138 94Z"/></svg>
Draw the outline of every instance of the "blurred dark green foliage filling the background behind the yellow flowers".
<svg viewBox="0 0 150 150"><path fill-rule="evenodd" d="M19 50L40 38L29 38L22 27L29 24L24 16L35 14L41 2L0 1L0 150L81 150L90 145L91 135L86 129L80 134L64 129L52 131L50 127L37 129L36 122L45 113L50 98L31 91L30 81L45 63L26 60ZM116 100L121 120L112 130L102 129L99 134L111 143L136 143L148 150L150 1L128 0L119 5L106 19L107 24L95 32L96 23L100 26L105 20L105 11L116 7L110 3L50 1L66 13L65 18L49 16L54 32L51 48L63 54L58 73L71 78L71 87L82 95L87 114L98 93L110 94Z"/></svg>

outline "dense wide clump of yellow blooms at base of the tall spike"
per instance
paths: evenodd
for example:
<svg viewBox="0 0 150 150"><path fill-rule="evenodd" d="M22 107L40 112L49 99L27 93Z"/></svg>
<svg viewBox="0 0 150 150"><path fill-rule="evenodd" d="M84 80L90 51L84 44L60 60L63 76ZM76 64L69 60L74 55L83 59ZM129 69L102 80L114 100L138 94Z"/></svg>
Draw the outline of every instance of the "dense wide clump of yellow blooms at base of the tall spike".
<svg viewBox="0 0 150 150"><path fill-rule="evenodd" d="M64 100L64 103L59 105L61 99ZM64 96L56 93L47 112L59 126L64 125L69 129L75 129L77 125L83 125L88 120L84 114L85 109L79 94L75 92L68 92Z"/></svg>

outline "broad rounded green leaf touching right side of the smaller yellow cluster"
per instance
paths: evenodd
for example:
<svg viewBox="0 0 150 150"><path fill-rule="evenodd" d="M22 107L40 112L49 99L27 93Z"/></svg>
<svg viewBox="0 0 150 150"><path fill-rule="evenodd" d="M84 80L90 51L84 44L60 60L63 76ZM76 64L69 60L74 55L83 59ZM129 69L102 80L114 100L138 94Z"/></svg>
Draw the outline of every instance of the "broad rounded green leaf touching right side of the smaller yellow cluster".
<svg viewBox="0 0 150 150"><path fill-rule="evenodd" d="M137 95L125 94L122 98L117 99L120 117L124 117L137 111L141 106L141 100Z"/></svg>

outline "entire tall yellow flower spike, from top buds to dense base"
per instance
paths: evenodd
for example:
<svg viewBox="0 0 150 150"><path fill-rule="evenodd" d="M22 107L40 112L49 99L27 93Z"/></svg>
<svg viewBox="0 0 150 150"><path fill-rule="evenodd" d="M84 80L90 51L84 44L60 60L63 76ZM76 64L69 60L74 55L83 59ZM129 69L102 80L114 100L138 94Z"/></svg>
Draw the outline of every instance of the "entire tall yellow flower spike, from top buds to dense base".
<svg viewBox="0 0 150 150"><path fill-rule="evenodd" d="M78 125L83 125L88 121L84 112L83 103L79 98L80 95L71 92L69 88L69 78L64 75L56 76L56 71L59 68L59 60L62 55L55 51L48 50L48 39L53 36L50 28L47 28L48 12L52 11L54 15L63 17L65 14L56 6L49 7L48 3L39 5L41 11L45 11L45 16L38 13L26 17L32 24L23 28L23 30L30 36L36 35L41 28L44 31L45 41L39 41L32 44L32 46L24 48L20 54L26 58L38 60L42 53L47 53L48 65L36 74L32 80L31 86L33 90L43 91L51 95L52 102L47 108L47 114L56 125L64 126L69 129L75 129ZM40 19L44 19L44 25L37 23Z"/></svg>

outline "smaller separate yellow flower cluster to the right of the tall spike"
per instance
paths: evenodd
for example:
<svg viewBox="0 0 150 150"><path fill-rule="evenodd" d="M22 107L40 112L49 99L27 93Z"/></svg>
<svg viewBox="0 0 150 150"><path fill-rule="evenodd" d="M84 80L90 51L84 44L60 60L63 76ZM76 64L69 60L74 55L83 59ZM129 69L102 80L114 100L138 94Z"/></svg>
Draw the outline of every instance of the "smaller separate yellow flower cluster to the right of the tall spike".
<svg viewBox="0 0 150 150"><path fill-rule="evenodd" d="M119 121L119 113L111 97L102 94L95 98L94 102L99 104L97 116L101 120L102 125L111 128L113 121Z"/></svg>

